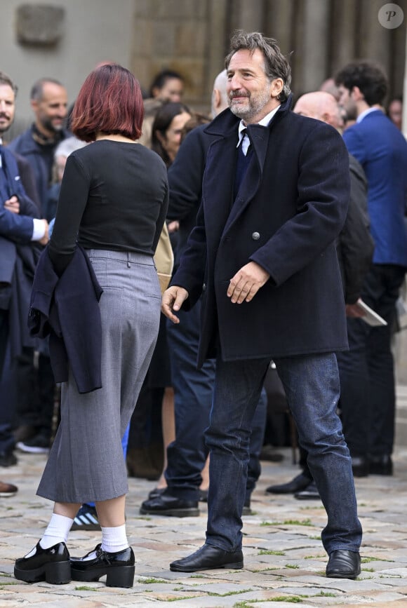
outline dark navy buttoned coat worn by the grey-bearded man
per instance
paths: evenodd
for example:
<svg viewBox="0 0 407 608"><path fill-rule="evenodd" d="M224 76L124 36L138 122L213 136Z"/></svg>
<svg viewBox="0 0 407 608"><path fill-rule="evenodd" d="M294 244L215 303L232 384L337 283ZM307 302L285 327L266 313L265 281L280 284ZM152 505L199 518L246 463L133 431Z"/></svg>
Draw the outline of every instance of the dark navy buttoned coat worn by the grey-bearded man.
<svg viewBox="0 0 407 608"><path fill-rule="evenodd" d="M219 335L224 360L347 349L335 250L349 200L349 159L331 126L290 112L249 125L253 158L233 201L239 119L229 109L206 127L208 149L196 227L173 285L185 308L204 290L199 364ZM255 261L270 279L252 302L232 304L230 278Z"/></svg>

